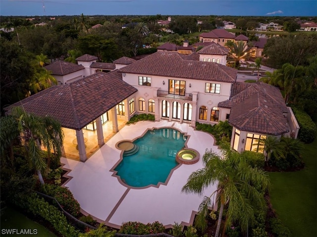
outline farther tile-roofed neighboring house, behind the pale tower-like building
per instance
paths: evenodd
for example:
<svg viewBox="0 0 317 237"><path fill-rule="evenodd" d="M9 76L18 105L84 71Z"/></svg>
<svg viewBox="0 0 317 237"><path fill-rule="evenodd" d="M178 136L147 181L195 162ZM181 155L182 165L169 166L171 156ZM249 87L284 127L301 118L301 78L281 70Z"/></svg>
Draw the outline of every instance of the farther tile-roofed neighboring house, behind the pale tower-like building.
<svg viewBox="0 0 317 237"><path fill-rule="evenodd" d="M199 35L199 42L214 42L221 46L224 46L228 41L232 41L236 38L233 34L224 29L214 29L208 33L202 33Z"/></svg>

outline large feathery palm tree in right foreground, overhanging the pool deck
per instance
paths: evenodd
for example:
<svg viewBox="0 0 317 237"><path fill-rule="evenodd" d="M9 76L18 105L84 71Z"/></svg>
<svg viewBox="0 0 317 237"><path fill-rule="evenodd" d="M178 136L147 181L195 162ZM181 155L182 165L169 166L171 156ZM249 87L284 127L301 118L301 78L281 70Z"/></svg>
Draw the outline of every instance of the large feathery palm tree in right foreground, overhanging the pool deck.
<svg viewBox="0 0 317 237"><path fill-rule="evenodd" d="M226 219L223 229L238 221L246 231L254 219L254 208L265 206L264 192L268 189L269 178L262 169L251 168L244 153L222 149L222 156L206 150L203 155L204 168L193 172L182 191L201 194L210 185L218 184L209 197L205 196L199 207L196 225L206 228L206 217L211 207L211 197L217 193L219 217L215 237L218 237L223 210L226 207ZM220 207L219 207L220 206Z"/></svg>

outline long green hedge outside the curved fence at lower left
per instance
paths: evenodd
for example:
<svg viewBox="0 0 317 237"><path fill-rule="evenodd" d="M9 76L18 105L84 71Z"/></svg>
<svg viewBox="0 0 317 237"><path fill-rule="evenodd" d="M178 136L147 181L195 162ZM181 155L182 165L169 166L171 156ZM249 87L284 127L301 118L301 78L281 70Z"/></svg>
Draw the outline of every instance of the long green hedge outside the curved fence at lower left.
<svg viewBox="0 0 317 237"><path fill-rule="evenodd" d="M78 236L78 231L71 226L66 217L61 211L50 205L43 198L40 198L38 195L33 194L27 198L27 208L34 215L39 215L43 219L50 222L53 228L58 231L63 237L74 237ZM24 206L23 208L25 208Z"/></svg>

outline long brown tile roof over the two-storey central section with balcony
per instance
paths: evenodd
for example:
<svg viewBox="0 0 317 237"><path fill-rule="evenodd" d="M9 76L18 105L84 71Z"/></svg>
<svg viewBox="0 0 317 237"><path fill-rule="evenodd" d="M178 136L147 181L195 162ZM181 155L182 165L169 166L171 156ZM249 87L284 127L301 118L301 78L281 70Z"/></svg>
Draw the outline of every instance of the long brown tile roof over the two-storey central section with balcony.
<svg viewBox="0 0 317 237"><path fill-rule="evenodd" d="M219 63L185 60L177 52L158 51L119 72L234 83L237 70Z"/></svg>

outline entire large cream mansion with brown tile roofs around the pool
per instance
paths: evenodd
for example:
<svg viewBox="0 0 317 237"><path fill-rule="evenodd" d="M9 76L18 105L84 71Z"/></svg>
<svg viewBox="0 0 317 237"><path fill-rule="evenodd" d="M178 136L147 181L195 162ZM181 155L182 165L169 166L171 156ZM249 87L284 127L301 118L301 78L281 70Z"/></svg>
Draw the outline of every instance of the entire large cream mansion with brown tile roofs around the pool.
<svg viewBox="0 0 317 237"><path fill-rule="evenodd" d="M12 106L51 115L63 128L74 130L81 161L87 159L83 130L88 125L97 127L95 150L104 144L105 114L113 132L118 131L118 119L127 121L140 113L192 127L196 122L229 119L234 127L231 144L238 151L257 147L260 136L296 138L298 124L278 89L264 83L236 83L236 69L193 55L156 52L119 70L53 86Z"/></svg>

